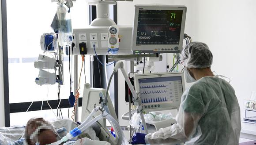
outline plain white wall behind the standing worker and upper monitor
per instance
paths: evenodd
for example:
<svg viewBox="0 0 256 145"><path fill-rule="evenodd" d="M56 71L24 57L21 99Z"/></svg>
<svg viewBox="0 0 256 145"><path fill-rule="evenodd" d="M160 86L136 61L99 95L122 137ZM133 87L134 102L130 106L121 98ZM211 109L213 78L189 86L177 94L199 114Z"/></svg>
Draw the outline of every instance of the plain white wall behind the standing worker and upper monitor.
<svg viewBox="0 0 256 145"><path fill-rule="evenodd" d="M255 0L134 0L118 2L118 24L132 25L135 4L185 5L185 33L207 43L212 70L231 79L243 117L243 101L256 91ZM119 90L119 96L123 91ZM120 104L122 105L122 104ZM123 124L121 124L123 125Z"/></svg>

